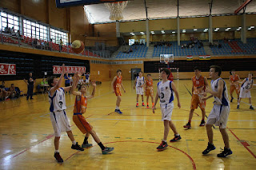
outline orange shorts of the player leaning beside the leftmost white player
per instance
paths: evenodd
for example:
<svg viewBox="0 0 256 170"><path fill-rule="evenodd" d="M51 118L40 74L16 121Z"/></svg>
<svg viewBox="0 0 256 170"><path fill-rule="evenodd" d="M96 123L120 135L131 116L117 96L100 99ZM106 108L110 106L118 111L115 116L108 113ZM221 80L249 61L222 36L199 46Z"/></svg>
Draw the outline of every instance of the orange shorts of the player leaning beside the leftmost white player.
<svg viewBox="0 0 256 170"><path fill-rule="evenodd" d="M73 121L83 134L90 132L93 129L93 127L86 121L85 117L83 117L81 113L74 113Z"/></svg>

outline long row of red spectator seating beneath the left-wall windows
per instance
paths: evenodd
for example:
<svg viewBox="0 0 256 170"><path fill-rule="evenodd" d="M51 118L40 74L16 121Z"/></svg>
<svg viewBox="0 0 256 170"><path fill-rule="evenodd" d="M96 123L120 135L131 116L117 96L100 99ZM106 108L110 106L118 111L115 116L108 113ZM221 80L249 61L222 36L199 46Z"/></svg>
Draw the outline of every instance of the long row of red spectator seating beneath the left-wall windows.
<svg viewBox="0 0 256 170"><path fill-rule="evenodd" d="M37 38L29 38L23 35L12 35L2 32L0 30L0 42L2 44L14 44L19 47L33 48L33 49L42 49L48 51L58 51L59 53L72 53L85 57L101 57L101 58L110 58L110 53L106 51L94 51L90 49L84 49L82 53L74 53L70 45L59 45L54 42L44 41Z"/></svg>

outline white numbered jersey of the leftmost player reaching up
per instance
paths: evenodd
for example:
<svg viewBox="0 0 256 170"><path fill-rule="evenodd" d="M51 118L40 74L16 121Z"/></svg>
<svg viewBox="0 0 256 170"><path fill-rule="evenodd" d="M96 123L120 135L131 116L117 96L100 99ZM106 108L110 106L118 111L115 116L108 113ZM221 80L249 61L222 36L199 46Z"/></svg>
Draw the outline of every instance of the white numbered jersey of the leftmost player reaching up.
<svg viewBox="0 0 256 170"><path fill-rule="evenodd" d="M65 91L63 88L55 90L51 97L49 92L50 112L59 112L66 109Z"/></svg>

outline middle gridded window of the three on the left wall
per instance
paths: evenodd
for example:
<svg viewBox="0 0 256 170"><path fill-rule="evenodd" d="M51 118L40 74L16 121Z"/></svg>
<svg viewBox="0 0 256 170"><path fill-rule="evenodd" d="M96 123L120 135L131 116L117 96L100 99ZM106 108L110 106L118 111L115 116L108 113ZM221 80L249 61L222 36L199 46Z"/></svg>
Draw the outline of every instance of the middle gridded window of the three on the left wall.
<svg viewBox="0 0 256 170"><path fill-rule="evenodd" d="M23 30L24 30L24 35L26 37L37 38L44 41L48 41L47 26L24 19Z"/></svg>

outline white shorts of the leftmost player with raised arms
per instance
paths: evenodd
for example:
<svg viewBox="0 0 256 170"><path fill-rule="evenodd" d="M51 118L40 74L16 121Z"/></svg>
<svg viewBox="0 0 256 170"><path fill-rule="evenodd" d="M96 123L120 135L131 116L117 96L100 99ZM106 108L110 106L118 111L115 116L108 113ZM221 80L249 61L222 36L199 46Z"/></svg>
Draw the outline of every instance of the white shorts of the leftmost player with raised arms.
<svg viewBox="0 0 256 170"><path fill-rule="evenodd" d="M61 136L62 132L71 130L65 110L50 113L50 121L54 128L54 136Z"/></svg>

